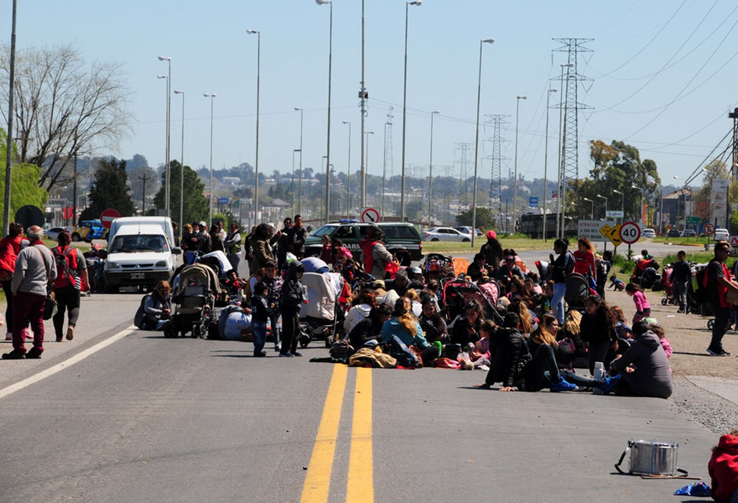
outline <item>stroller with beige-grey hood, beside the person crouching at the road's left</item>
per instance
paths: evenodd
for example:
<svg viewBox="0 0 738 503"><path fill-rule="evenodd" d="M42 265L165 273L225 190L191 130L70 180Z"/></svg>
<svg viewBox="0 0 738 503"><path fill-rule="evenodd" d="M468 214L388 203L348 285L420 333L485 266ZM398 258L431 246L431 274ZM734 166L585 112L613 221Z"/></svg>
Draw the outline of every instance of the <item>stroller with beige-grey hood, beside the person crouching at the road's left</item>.
<svg viewBox="0 0 738 503"><path fill-rule="evenodd" d="M196 263L182 268L179 294L173 297L175 308L170 336L192 332L193 339L205 339L215 319L218 289L218 277L209 266Z"/></svg>

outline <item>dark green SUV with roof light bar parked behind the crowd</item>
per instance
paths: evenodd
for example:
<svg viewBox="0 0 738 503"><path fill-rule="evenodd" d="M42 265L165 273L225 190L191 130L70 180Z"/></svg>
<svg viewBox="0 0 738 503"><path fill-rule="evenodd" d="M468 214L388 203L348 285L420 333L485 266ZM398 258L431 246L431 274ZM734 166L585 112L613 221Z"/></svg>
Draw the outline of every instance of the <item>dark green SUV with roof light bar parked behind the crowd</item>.
<svg viewBox="0 0 738 503"><path fill-rule="evenodd" d="M331 236L333 239L339 239L343 246L351 250L354 259L361 260L362 249L359 248L359 241L367 237L370 223L360 222L331 222L324 226L318 227L305 240L305 256L312 257L320 255L321 243L323 235ZM412 260L421 260L423 258L423 243L421 243L418 230L412 223L377 223L382 231L384 231L384 245L387 250L399 258L402 266L410 266Z"/></svg>

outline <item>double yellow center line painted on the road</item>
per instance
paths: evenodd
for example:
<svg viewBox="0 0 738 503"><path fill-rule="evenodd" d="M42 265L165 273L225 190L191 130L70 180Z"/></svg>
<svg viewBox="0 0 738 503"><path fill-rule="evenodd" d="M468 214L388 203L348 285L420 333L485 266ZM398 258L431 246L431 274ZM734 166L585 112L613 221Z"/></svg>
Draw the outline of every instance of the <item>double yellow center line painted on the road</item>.
<svg viewBox="0 0 738 503"><path fill-rule="evenodd" d="M313 454L303 485L302 503L325 503L331 488L331 472L336 452L338 426L348 367L334 365L323 415L315 436ZM371 369L356 369L354 420L351 426L351 452L348 458L347 502L374 501L374 464L372 454Z"/></svg>

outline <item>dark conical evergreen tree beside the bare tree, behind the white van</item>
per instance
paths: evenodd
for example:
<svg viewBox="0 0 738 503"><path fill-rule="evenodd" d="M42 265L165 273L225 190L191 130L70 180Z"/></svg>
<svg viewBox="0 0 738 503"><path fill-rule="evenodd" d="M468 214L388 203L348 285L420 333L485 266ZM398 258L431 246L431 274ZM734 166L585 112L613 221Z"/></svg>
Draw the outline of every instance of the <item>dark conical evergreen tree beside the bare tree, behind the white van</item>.
<svg viewBox="0 0 738 503"><path fill-rule="evenodd" d="M80 220L100 218L100 213L108 208L117 209L122 217L130 217L136 211L128 188L125 161L100 159L100 167L94 174L89 193L90 204L80 215Z"/></svg>

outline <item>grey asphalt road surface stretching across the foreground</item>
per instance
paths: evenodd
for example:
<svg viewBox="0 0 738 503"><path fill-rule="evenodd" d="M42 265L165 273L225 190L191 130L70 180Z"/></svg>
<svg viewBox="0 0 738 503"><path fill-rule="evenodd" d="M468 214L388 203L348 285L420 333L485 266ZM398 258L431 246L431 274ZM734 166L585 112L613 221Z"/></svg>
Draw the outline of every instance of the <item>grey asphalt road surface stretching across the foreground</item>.
<svg viewBox="0 0 738 503"><path fill-rule="evenodd" d="M1 502L681 502L686 482L614 462L631 438L678 442L679 465L707 476L717 441L669 400L310 363L320 345L251 358L249 343L130 331L70 364L128 327L139 298L83 299L74 341L0 364Z"/></svg>

